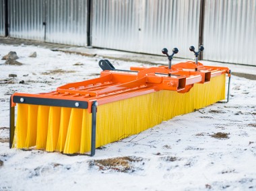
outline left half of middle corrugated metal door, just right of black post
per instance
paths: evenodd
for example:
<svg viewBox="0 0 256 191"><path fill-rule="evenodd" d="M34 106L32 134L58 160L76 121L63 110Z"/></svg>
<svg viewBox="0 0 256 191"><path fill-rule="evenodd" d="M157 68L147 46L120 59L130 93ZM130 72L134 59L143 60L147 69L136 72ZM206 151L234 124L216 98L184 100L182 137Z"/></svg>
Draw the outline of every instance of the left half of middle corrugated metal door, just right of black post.
<svg viewBox="0 0 256 191"><path fill-rule="evenodd" d="M92 46L139 52L141 1L96 0L92 5Z"/></svg>

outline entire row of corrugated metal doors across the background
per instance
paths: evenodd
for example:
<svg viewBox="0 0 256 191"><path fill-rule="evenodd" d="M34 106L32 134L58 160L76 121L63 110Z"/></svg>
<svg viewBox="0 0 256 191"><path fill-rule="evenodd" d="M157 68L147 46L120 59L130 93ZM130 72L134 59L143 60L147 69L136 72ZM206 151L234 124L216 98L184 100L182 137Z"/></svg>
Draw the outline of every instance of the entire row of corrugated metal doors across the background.
<svg viewBox="0 0 256 191"><path fill-rule="evenodd" d="M256 0L8 0L8 7L15 38L148 54L176 46L183 58L203 42L203 59L256 65Z"/></svg>

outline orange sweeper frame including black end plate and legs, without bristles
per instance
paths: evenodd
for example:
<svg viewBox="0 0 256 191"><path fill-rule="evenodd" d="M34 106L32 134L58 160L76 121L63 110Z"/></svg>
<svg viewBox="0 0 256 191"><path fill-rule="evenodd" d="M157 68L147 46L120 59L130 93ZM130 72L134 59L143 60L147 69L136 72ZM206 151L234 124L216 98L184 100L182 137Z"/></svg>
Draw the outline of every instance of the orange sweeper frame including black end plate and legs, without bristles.
<svg viewBox="0 0 256 191"><path fill-rule="evenodd" d="M34 104L39 106L57 106L87 109L92 113L91 156L96 148L96 112L97 105L145 95L154 91L170 90L179 93L188 92L195 83L208 83L212 77L230 72L224 67L206 67L201 63L179 63L160 67L131 67L131 71L115 69L108 61L99 63L108 69L100 77L86 81L68 83L49 93L14 93L10 102L10 138L13 145L15 131L15 104Z"/></svg>

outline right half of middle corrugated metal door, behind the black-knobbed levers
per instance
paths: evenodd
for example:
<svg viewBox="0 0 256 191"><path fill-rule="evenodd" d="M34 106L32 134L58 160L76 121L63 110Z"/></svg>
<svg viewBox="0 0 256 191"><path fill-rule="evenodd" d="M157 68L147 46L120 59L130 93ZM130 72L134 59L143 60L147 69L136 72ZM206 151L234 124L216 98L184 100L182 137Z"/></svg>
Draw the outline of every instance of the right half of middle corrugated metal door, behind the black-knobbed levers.
<svg viewBox="0 0 256 191"><path fill-rule="evenodd" d="M162 54L179 48L176 55L193 58L189 46L199 43L200 1L144 1L141 18L141 52Z"/></svg>

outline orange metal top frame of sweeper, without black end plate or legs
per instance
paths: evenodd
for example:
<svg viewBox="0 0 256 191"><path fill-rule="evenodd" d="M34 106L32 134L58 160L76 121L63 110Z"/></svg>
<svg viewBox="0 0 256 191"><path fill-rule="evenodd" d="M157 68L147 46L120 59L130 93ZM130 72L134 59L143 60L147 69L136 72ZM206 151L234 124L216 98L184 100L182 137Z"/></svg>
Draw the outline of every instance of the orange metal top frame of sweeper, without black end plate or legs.
<svg viewBox="0 0 256 191"><path fill-rule="evenodd" d="M22 103L26 103L25 98L73 100L87 102L88 112L91 112L94 101L100 105L160 90L185 93L194 83L207 83L211 77L223 73L228 73L228 68L206 67L201 63L197 67L191 61L172 65L172 69L161 66L131 67L131 71L102 71L100 77L96 79L68 83L49 93L14 93L11 96L11 106L15 106L16 102L13 102L15 96L23 98Z"/></svg>

